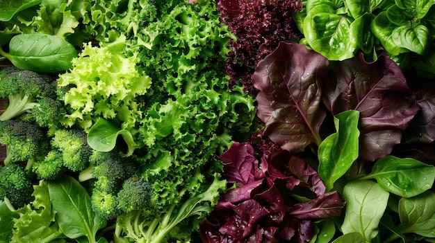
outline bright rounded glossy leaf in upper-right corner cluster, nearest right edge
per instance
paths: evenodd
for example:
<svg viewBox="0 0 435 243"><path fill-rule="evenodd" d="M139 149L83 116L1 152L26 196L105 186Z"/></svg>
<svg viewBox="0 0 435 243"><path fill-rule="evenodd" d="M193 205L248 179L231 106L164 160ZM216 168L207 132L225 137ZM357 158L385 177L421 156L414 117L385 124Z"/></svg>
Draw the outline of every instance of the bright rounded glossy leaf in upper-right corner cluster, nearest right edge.
<svg viewBox="0 0 435 243"><path fill-rule="evenodd" d="M391 33L393 42L419 55L425 55L430 48L430 34L426 26L400 26Z"/></svg>

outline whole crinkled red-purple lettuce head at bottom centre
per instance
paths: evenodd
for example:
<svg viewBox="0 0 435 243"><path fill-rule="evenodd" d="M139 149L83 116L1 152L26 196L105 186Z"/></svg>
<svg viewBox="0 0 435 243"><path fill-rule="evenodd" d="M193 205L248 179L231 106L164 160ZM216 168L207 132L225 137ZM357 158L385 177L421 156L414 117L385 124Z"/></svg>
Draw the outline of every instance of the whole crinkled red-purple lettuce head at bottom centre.
<svg viewBox="0 0 435 243"><path fill-rule="evenodd" d="M342 197L325 194L315 170L286 150L272 147L256 159L252 145L236 142L220 159L227 180L238 187L222 195L202 222L202 242L309 242L313 219L338 216L343 209ZM248 180L240 180L240 168L248 168L243 172ZM293 199L301 191L313 198Z"/></svg>

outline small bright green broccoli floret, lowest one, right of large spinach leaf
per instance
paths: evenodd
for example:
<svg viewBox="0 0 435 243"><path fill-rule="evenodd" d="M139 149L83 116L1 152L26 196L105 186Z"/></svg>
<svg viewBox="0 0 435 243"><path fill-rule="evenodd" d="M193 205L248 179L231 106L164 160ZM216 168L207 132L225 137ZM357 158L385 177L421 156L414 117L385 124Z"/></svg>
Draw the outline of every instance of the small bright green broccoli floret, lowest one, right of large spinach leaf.
<svg viewBox="0 0 435 243"><path fill-rule="evenodd" d="M115 194L94 188L90 199L92 210L106 220L115 219L123 213L123 211L117 207L118 199Z"/></svg>

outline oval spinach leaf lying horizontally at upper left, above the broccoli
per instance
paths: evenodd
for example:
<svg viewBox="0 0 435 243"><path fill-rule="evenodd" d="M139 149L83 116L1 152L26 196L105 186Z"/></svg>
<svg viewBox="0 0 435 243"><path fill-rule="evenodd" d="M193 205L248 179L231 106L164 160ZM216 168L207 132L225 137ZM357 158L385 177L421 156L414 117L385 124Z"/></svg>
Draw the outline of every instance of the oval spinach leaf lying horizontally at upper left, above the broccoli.
<svg viewBox="0 0 435 243"><path fill-rule="evenodd" d="M72 68L77 51L65 39L54 35L33 33L15 35L9 42L8 58L19 69L41 73L54 73Z"/></svg>

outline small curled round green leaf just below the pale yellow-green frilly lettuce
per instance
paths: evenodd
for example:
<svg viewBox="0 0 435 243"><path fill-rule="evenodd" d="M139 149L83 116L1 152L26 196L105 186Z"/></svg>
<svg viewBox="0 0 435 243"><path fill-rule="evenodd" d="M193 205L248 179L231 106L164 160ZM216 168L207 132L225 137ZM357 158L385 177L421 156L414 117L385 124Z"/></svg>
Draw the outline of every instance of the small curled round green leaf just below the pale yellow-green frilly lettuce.
<svg viewBox="0 0 435 243"><path fill-rule="evenodd" d="M90 127L88 132L88 144L94 150L109 152L115 148L118 136L122 136L128 146L128 151L125 156L133 154L133 151L138 147L133 139L133 135L128 130L120 129L104 118L99 118L97 122Z"/></svg>

